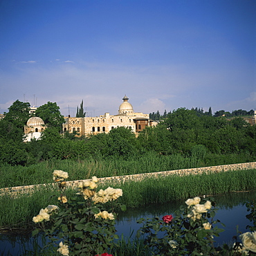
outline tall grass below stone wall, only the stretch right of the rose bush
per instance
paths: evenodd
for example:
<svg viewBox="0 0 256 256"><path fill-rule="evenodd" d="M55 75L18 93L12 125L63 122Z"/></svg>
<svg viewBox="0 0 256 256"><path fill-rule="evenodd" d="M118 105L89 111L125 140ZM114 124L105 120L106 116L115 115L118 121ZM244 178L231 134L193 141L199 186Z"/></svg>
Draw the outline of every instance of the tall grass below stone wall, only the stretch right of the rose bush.
<svg viewBox="0 0 256 256"><path fill-rule="evenodd" d="M115 185L115 184L109 184ZM115 185L123 190L118 199L128 207L138 208L150 203L167 203L192 196L225 194L256 189L256 170L239 170L188 176L159 176L143 181L127 181Z"/></svg>

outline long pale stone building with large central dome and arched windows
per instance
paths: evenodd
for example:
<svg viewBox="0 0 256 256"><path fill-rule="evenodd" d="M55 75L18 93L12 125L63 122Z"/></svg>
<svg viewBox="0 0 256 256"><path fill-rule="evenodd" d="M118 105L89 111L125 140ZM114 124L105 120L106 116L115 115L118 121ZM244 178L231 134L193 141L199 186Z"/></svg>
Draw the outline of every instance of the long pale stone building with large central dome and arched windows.
<svg viewBox="0 0 256 256"><path fill-rule="evenodd" d="M111 129L117 127L127 127L138 134L145 127L157 124L153 120L149 120L149 114L134 112L126 95L122 100L117 115L111 116L109 113L104 113L104 115L98 117L67 117L65 118L63 131L77 132L80 136L88 136L89 134L109 133Z"/></svg>

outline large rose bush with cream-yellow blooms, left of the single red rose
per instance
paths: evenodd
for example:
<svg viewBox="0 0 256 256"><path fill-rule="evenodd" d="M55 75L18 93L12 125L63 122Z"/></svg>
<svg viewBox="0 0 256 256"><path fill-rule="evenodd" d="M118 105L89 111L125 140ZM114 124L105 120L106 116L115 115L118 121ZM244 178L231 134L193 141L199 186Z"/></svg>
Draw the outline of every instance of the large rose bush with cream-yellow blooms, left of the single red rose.
<svg viewBox="0 0 256 256"><path fill-rule="evenodd" d="M115 246L116 235L114 208L125 210L125 205L112 201L122 196L122 190L107 188L96 191L98 178L79 183L77 192L67 196L66 181L68 173L61 170L53 172L53 180L58 183L59 205L48 205L33 217L39 228L51 240L48 246L59 246L55 251L61 255L109 255L106 250Z"/></svg>

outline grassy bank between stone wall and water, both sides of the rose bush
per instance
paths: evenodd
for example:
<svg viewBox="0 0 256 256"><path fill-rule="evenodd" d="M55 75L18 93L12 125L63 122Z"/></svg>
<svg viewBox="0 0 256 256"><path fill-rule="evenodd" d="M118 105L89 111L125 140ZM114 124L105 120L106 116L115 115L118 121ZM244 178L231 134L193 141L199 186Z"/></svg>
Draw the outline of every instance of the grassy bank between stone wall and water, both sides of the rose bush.
<svg viewBox="0 0 256 256"><path fill-rule="evenodd" d="M168 176L143 181L129 181L125 184L105 184L122 188L123 196L118 201L128 208L138 208L150 203L167 203L192 196L223 194L232 191L255 190L256 170L220 172L190 176ZM71 192L71 191L69 191ZM10 196L0 197L0 227L30 228L32 218L41 208L56 204L59 192L51 186L24 195L17 199Z"/></svg>

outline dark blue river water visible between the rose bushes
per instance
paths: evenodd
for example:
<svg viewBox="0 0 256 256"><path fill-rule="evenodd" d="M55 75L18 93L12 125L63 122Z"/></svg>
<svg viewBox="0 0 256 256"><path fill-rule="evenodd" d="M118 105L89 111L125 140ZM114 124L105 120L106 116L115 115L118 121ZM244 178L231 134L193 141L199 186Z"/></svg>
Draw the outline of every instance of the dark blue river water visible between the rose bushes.
<svg viewBox="0 0 256 256"><path fill-rule="evenodd" d="M217 245L223 243L233 243L232 237L239 232L248 232L247 225L250 221L246 219L248 214L247 208L244 205L246 201L256 199L256 192L236 192L214 196L217 202L217 214L214 220L219 219L226 227L220 226L225 231L220 233L219 237L214 237ZM140 224L136 221L140 218L163 217L167 214L173 214L184 201L176 201L173 203L165 203L164 205L149 205L140 209L128 209L126 212L121 212L116 221L116 230L118 235L125 237L134 237ZM40 240L33 239L30 234L26 235L0 235L0 255L23 255L24 248L33 250L33 244L41 244Z"/></svg>

